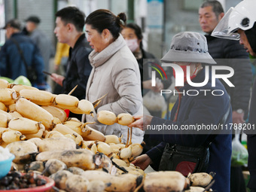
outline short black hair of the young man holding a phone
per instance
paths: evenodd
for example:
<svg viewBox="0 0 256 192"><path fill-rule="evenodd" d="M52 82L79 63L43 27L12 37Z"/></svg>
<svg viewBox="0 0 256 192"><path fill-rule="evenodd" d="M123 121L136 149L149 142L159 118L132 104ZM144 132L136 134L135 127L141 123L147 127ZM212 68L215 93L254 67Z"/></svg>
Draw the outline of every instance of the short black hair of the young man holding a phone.
<svg viewBox="0 0 256 192"><path fill-rule="evenodd" d="M56 12L55 16L60 17L62 22L65 23L65 25L68 23L72 23L75 26L75 29L78 30L78 32L83 32L85 14L78 8L62 8L61 10Z"/></svg>

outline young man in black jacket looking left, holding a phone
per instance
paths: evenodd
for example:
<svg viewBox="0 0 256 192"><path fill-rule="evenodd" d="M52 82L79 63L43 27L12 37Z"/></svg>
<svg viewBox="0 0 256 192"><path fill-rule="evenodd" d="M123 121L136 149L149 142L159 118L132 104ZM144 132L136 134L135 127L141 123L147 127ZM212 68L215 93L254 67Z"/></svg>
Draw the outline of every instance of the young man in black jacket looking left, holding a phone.
<svg viewBox="0 0 256 192"><path fill-rule="evenodd" d="M56 73L50 77L63 87L66 94L78 85L72 96L81 100L85 98L87 80L92 69L88 59L91 49L87 47L87 39L83 32L85 15L78 8L67 7L57 11L55 16L54 33L59 42L69 44L69 62L65 77ZM81 114L71 113L70 117L78 117L81 120Z"/></svg>

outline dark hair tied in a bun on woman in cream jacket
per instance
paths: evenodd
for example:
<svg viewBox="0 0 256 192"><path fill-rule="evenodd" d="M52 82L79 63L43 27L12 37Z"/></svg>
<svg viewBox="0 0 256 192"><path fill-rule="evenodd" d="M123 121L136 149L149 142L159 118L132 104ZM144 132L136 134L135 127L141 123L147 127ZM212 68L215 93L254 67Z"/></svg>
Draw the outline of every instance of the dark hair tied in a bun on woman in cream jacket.
<svg viewBox="0 0 256 192"><path fill-rule="evenodd" d="M117 39L119 37L121 27L126 25L126 14L120 13L115 16L109 10L98 9L88 15L85 20L85 24L91 25L92 29L96 29L99 33L102 33L104 29L108 29L114 39Z"/></svg>

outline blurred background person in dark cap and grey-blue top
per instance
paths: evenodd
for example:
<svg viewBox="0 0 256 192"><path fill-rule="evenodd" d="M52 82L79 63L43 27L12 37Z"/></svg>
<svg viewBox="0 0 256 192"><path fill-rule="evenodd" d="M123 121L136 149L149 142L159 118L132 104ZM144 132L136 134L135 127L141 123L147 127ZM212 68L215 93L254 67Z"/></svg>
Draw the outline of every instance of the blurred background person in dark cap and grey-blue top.
<svg viewBox="0 0 256 192"><path fill-rule="evenodd" d="M53 56L53 44L51 44L47 35L38 29L40 21L37 16L28 17L26 19L26 31L40 50L41 56L44 59L44 70L49 72L49 60L50 56Z"/></svg>

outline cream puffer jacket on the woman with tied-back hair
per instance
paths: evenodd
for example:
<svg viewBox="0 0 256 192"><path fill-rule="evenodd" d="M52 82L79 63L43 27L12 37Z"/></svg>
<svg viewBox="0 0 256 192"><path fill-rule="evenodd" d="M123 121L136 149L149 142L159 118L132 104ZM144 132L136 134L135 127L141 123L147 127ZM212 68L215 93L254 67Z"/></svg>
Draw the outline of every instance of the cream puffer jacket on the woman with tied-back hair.
<svg viewBox="0 0 256 192"><path fill-rule="evenodd" d="M93 69L87 82L86 99L94 102L108 93L95 108L96 112L108 110L116 115L120 113L142 114L139 66L133 53L126 46L122 35L119 35L116 41L109 44L100 53L93 50L89 59ZM94 117L86 115L86 121L96 121L96 114ZM90 126L105 135L120 136L123 134L123 142L126 142L127 126L117 123L107 126L96 122ZM142 142L143 136L142 130L134 128L132 142Z"/></svg>

